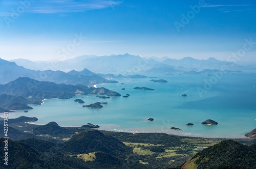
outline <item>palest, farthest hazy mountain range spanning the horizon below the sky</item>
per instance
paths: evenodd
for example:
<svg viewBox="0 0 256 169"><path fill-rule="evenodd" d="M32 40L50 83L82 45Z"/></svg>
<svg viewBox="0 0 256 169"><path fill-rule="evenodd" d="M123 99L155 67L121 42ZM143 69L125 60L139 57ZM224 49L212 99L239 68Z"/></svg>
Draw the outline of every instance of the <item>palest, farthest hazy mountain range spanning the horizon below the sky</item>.
<svg viewBox="0 0 256 169"><path fill-rule="evenodd" d="M163 58L142 58L138 55L129 53L119 55L105 55L101 57L92 55L83 55L65 61L40 61L32 62L24 59L11 60L19 66L24 66L32 70L61 70L69 72L71 70L82 71L87 68L95 73L118 73L124 74L130 72L136 74L148 69L172 68L178 71L202 71L204 69L221 69L222 66L228 66L232 70L243 68L232 62L219 61L215 58L207 60L198 60L190 57L181 60L174 60L168 57ZM54 63L54 64L53 64ZM232 65L232 66L231 66Z"/></svg>

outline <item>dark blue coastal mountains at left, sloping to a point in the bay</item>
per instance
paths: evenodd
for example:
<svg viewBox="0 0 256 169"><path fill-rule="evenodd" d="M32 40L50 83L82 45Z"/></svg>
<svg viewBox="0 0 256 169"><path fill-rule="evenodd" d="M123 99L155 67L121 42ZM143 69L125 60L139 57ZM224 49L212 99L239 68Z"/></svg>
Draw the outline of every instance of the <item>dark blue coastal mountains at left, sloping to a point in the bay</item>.
<svg viewBox="0 0 256 169"><path fill-rule="evenodd" d="M0 112L11 109L30 109L27 104L41 104L43 99L68 99L75 94L96 94L121 96L105 88L93 88L84 85L57 84L38 81L28 77L19 77L5 85L0 85Z"/></svg>

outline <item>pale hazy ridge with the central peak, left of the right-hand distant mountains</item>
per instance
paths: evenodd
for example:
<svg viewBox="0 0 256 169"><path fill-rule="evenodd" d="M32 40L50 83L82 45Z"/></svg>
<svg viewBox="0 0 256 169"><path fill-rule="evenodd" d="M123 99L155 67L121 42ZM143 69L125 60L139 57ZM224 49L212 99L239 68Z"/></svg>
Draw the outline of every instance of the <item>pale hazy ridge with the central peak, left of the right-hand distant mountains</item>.
<svg viewBox="0 0 256 169"><path fill-rule="evenodd" d="M12 60L17 62L18 65L33 69L37 67L37 70L45 70L44 68L51 68L50 62L33 62L24 60ZM88 56L83 55L66 61L57 61L55 63L56 69L69 72L71 70L82 71L87 68L95 73L114 73L114 72L133 72L146 70L156 65L162 66L164 64L157 62L153 59L141 58L138 55L131 55L128 53L110 55L110 56ZM138 70L139 69L139 70Z"/></svg>

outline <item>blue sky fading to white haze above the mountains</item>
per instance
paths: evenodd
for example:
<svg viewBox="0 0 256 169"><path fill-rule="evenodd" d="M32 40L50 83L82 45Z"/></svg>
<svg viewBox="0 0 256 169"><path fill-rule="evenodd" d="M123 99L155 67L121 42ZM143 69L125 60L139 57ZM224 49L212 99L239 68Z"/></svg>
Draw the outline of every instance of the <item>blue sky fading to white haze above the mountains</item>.
<svg viewBox="0 0 256 169"><path fill-rule="evenodd" d="M256 1L0 1L0 46L5 60L130 53L256 63Z"/></svg>

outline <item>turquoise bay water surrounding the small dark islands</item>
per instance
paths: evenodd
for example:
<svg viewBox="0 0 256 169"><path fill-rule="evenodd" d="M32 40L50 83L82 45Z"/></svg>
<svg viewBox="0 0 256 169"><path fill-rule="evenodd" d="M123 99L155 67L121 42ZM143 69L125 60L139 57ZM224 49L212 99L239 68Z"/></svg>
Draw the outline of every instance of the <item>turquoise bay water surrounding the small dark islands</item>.
<svg viewBox="0 0 256 169"><path fill-rule="evenodd" d="M128 98L100 99L96 95L77 95L71 99L45 100L41 105L30 105L34 109L29 112L10 112L9 118L27 116L37 117L36 124L54 121L60 126L82 126L93 123L100 129L111 131L226 138L243 138L245 133L256 128L256 74L224 74L220 79L207 74L146 75L157 78L116 79L119 83L97 85L122 96L130 94ZM165 79L168 82L155 83L150 79ZM135 90L134 87L155 90ZM125 90L120 90L122 88ZM182 94L188 97L182 97ZM83 104L98 101L109 104L102 104L103 108L84 108L74 102L77 98L82 98ZM154 121L147 121L147 118L154 118ZM219 124L201 125L207 119ZM187 123L194 126L186 126Z"/></svg>

